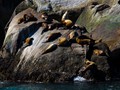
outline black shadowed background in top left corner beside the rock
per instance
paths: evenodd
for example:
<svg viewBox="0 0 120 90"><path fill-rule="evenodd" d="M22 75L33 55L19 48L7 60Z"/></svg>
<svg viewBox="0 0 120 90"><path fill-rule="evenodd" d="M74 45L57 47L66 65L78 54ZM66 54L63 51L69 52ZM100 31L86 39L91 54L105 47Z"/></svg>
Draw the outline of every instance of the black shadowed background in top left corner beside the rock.
<svg viewBox="0 0 120 90"><path fill-rule="evenodd" d="M9 21L15 7L21 2L22 0L0 0L0 47L2 46L4 37L5 37L5 25Z"/></svg>

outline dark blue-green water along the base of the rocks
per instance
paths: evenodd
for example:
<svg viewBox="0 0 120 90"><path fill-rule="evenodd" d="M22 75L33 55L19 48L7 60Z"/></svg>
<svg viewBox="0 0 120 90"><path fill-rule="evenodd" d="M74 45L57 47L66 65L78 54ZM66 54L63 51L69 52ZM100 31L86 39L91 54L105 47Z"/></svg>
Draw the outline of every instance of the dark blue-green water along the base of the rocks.
<svg viewBox="0 0 120 90"><path fill-rule="evenodd" d="M120 81L116 82L79 82L64 84L1 83L0 90L120 90Z"/></svg>

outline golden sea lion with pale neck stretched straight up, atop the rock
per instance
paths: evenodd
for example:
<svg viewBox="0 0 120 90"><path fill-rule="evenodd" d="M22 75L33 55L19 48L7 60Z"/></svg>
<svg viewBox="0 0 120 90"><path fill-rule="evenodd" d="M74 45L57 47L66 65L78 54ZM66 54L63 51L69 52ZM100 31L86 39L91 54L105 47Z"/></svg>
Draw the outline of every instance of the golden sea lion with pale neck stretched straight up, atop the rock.
<svg viewBox="0 0 120 90"><path fill-rule="evenodd" d="M61 22L62 22L62 24L63 24L65 27L71 28L72 25L73 25L73 22L72 22L72 20L70 20L70 19L66 19L67 14L68 14L68 11L66 11L66 12L63 14L62 19L61 19Z"/></svg>

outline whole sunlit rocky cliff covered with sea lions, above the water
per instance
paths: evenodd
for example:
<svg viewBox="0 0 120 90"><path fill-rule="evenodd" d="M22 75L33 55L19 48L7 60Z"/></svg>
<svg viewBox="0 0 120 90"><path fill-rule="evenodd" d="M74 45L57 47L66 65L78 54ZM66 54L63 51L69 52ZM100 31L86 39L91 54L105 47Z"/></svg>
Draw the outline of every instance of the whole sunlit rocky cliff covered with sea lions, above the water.
<svg viewBox="0 0 120 90"><path fill-rule="evenodd" d="M119 8L117 0L24 1L1 48L1 79L120 78Z"/></svg>

